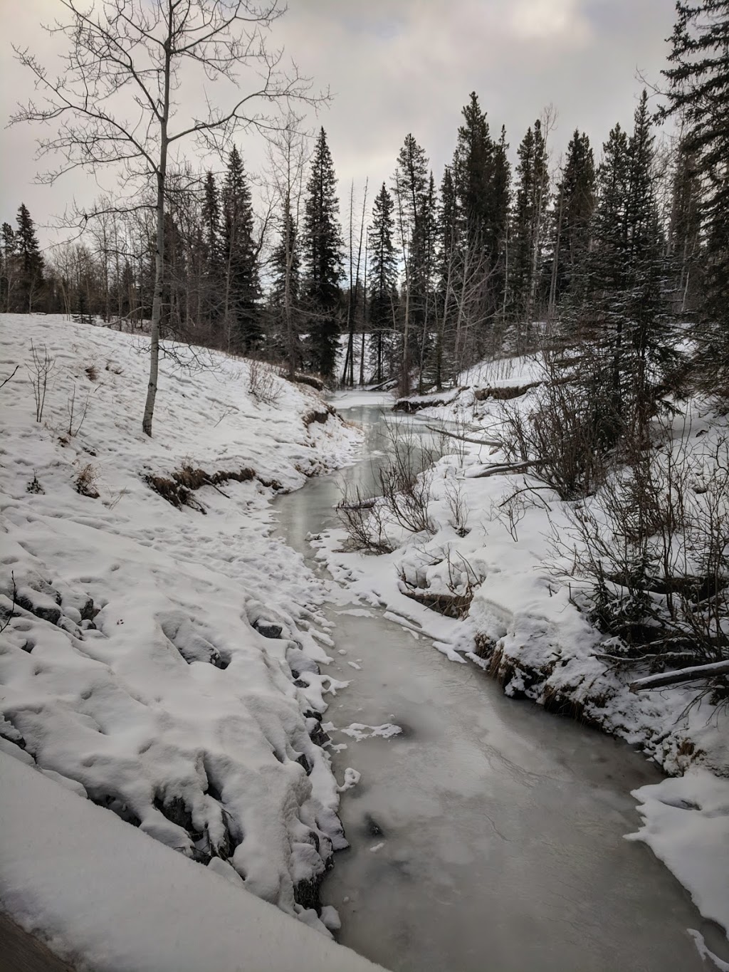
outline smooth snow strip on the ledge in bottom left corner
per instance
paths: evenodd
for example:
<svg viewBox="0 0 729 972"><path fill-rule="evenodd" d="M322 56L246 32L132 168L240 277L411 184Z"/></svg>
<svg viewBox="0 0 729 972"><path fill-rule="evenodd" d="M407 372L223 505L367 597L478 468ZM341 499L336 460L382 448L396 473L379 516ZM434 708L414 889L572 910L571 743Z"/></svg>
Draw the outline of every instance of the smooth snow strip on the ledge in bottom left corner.
<svg viewBox="0 0 729 972"><path fill-rule="evenodd" d="M78 972L379 966L0 752L0 904ZM316 920L315 913L304 918ZM338 927L333 908L322 909Z"/></svg>

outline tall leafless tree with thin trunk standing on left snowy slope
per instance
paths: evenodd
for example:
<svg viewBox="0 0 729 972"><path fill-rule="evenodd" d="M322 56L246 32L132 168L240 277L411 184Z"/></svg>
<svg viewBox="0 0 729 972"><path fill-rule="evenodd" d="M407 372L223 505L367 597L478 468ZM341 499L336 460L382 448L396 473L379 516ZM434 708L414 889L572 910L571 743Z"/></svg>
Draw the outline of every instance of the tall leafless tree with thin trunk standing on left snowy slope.
<svg viewBox="0 0 729 972"><path fill-rule="evenodd" d="M282 52L269 52L264 32L285 8L279 0L57 0L66 20L46 29L69 44L65 69L53 77L34 54L16 50L34 75L43 100L19 106L11 119L55 122L55 133L39 140L39 155L59 154L59 167L41 176L52 183L83 167L96 173L111 165L124 191L156 195L155 289L150 344L150 378L142 422L152 434L159 359L164 273L164 214L167 166L182 144L195 141L219 150L242 129L281 126L272 114L281 102L316 103L310 84L296 68L281 70ZM255 67L259 83L243 93L241 67ZM181 89L205 81L230 83L230 102L218 107L207 97L201 117L182 112ZM235 87L233 87L235 86ZM274 106L272 109L271 106ZM285 123L285 122L284 122Z"/></svg>

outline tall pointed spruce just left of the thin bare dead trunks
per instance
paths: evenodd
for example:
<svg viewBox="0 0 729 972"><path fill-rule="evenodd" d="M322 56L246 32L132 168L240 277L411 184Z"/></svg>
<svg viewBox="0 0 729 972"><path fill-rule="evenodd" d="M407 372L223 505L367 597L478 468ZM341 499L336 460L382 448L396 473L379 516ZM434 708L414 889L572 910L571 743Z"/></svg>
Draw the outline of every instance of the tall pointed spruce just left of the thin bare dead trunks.
<svg viewBox="0 0 729 972"><path fill-rule="evenodd" d="M339 336L344 244L338 216L336 176L322 128L306 184L301 255L310 315L307 364L327 377L333 374Z"/></svg>

